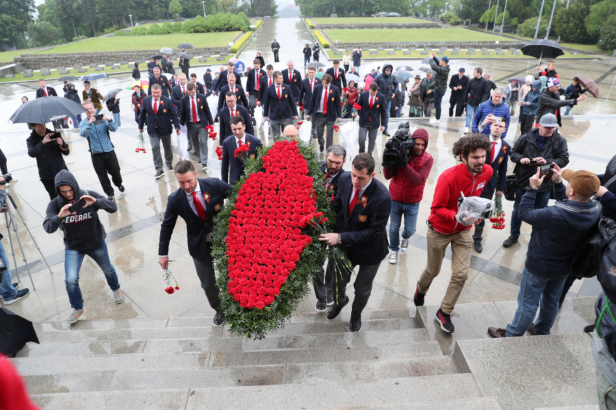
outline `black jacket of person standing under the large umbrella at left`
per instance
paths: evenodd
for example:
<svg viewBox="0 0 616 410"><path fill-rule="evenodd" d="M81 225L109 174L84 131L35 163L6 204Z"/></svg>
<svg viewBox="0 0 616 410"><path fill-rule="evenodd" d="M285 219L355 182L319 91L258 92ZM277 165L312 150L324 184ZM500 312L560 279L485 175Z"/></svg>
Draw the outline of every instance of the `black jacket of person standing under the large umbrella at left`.
<svg viewBox="0 0 616 410"><path fill-rule="evenodd" d="M51 129L45 129L45 134L53 133ZM55 133L55 137L60 137L60 133ZM62 155L68 155L68 144L62 140L62 146L55 141L43 144L44 136L39 136L34 129L26 140L28 146L28 155L36 158L36 166L38 166L38 176L41 178L53 178L61 170L68 170L64 163Z"/></svg>

